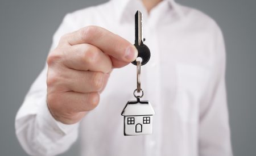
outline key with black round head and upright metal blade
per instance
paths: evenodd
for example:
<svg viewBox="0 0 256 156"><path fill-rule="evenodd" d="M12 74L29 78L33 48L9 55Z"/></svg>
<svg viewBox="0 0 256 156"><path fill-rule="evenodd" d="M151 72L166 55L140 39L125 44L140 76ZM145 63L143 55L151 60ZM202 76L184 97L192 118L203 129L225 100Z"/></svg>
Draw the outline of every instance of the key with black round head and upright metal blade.
<svg viewBox="0 0 256 156"><path fill-rule="evenodd" d="M145 41L145 39L143 39ZM138 50L138 57L142 58L141 65L147 64L150 60L150 49L142 41L142 14L140 11L137 11L135 14L135 44L134 46ZM131 62L134 65L137 65L137 61Z"/></svg>

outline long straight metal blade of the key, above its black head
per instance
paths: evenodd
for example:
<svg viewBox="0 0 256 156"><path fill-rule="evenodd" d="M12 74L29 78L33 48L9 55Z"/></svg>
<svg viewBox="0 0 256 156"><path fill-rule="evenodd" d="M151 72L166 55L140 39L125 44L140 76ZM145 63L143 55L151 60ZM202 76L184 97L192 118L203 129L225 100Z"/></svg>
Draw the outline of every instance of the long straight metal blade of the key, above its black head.
<svg viewBox="0 0 256 156"><path fill-rule="evenodd" d="M142 43L142 14L137 11L135 14L135 44L141 45Z"/></svg>

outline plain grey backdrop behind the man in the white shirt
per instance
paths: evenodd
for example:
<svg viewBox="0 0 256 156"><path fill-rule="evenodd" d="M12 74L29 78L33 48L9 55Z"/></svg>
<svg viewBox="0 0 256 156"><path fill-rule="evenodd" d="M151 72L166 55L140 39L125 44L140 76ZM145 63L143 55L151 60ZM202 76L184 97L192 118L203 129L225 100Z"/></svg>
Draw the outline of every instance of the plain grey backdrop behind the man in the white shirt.
<svg viewBox="0 0 256 156"><path fill-rule="evenodd" d="M105 1L0 1L0 155L27 155L15 137L15 114L44 66L52 35L63 16ZM207 13L222 28L234 155L255 155L256 1L176 1ZM76 143L63 155L78 153Z"/></svg>

